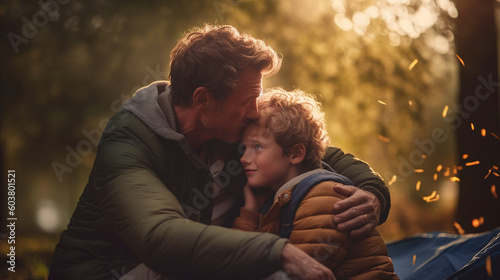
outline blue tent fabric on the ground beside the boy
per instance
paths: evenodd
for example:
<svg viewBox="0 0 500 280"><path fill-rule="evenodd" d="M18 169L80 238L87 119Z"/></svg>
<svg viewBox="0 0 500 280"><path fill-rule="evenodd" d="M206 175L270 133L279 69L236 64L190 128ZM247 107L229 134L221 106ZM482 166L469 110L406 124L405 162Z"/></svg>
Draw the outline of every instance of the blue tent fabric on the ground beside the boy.
<svg viewBox="0 0 500 280"><path fill-rule="evenodd" d="M481 234L423 233L389 243L387 250L401 280L500 279L500 228Z"/></svg>

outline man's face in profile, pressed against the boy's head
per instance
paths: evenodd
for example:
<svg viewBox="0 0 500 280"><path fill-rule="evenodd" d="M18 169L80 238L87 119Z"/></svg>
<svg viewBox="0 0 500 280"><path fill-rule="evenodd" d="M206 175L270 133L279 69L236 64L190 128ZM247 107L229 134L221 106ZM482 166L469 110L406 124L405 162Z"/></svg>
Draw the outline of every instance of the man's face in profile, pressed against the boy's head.
<svg viewBox="0 0 500 280"><path fill-rule="evenodd" d="M211 135L225 142L236 143L250 120L259 118L257 98L262 92L262 74L247 69L240 74L236 90L214 106L202 119Z"/></svg>

